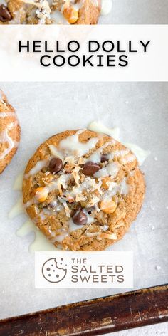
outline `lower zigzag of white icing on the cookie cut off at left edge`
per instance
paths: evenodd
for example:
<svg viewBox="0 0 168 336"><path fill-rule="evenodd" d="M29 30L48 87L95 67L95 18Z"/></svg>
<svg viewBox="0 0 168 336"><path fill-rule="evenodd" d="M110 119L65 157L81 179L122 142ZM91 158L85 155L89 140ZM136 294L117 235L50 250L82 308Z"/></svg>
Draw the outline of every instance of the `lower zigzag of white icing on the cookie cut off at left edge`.
<svg viewBox="0 0 168 336"><path fill-rule="evenodd" d="M17 121L11 122L11 124L6 126L6 129L0 133L0 143L8 143L8 147L4 149L4 152L1 153L0 159L4 159L6 155L11 152L11 149L18 147L19 143L13 140L9 136L9 131L12 130L12 128L16 127L18 125Z"/></svg>

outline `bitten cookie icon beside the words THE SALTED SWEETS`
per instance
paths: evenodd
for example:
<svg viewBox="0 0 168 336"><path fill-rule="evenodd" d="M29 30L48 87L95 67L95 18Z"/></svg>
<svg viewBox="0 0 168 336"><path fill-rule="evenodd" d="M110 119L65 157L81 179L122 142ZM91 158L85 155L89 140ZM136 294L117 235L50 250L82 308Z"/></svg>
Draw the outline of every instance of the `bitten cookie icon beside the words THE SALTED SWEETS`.
<svg viewBox="0 0 168 336"><path fill-rule="evenodd" d="M67 265L63 258L51 258L43 263L42 274L49 283L60 283L66 276Z"/></svg>

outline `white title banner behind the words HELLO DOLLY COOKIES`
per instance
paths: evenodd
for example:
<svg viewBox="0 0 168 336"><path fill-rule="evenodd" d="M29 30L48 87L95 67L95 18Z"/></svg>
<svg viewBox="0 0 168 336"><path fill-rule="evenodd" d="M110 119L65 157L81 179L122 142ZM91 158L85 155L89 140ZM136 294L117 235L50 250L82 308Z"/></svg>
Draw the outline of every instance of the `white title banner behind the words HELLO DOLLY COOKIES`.
<svg viewBox="0 0 168 336"><path fill-rule="evenodd" d="M166 81L168 80L168 25L162 26L0 26L0 73L3 81ZM33 40L48 41L49 46L53 47L55 41L61 41L61 47L65 48L63 56L68 58L70 53L67 52L67 44L69 41L77 40L80 42L80 51L77 53L80 58L83 54L90 56L88 53L88 40L98 40L100 43L110 40L121 41L122 48L126 48L129 40L132 41L133 48L137 49L137 53L127 53L129 65L127 67L70 67L66 62L61 68L51 65L51 67L43 67L39 59L43 53L19 53L18 41L26 43ZM145 43L151 40L147 53L143 53L142 46L138 41ZM51 44L52 43L52 44ZM31 48L32 50L32 48ZM42 48L43 50L43 48ZM98 51L98 53L107 57L106 53ZM116 48L112 55L116 55L116 59L120 56ZM51 53L51 59L57 55L56 52ZM95 64L98 62L96 61ZM107 62L104 61L106 64ZM116 64L118 61L116 62ZM10 70L9 70L10 69Z"/></svg>

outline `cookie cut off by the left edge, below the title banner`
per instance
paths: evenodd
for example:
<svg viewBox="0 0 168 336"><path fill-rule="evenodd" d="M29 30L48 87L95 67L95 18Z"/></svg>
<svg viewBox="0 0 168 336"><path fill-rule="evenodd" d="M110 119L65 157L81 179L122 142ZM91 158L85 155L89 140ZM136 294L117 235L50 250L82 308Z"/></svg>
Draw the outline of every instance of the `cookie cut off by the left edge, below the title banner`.
<svg viewBox="0 0 168 336"><path fill-rule="evenodd" d="M11 162L20 141L20 126L14 107L0 90L0 174Z"/></svg>

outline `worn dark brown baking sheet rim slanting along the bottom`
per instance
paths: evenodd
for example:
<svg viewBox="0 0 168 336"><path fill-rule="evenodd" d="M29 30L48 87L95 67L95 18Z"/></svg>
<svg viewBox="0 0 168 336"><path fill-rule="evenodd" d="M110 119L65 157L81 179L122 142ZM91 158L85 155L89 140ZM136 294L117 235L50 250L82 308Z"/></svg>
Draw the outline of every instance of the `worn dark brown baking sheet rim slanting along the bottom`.
<svg viewBox="0 0 168 336"><path fill-rule="evenodd" d="M0 321L1 336L91 336L168 321L168 285Z"/></svg>

